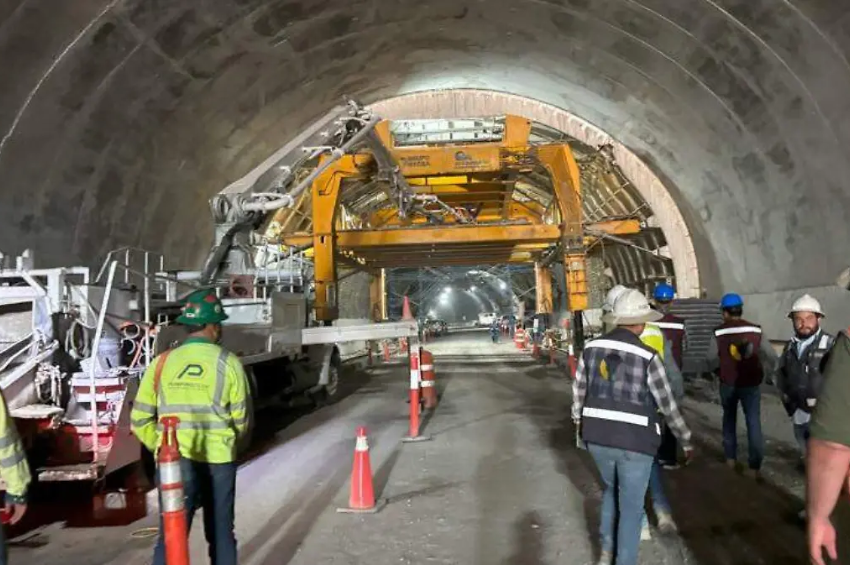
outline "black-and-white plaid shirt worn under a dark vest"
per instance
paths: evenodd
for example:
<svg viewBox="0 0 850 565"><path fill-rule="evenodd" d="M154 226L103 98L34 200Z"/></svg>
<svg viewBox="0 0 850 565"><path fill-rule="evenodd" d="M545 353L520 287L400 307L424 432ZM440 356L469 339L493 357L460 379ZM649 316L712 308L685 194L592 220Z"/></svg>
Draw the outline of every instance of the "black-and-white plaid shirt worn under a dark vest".
<svg viewBox="0 0 850 565"><path fill-rule="evenodd" d="M576 369L576 378L573 382L573 420L578 422L581 419L588 384L593 378L601 378L599 371L602 361L606 356L615 354L619 355L627 363L627 366L624 368L625 370L622 371L627 377L614 383L615 393L622 394L623 396L636 394L642 389L644 383L646 383L649 392L655 398L658 411L664 415L667 425L670 426L673 434L682 442L682 446L689 448L691 431L688 429L688 425L679 411L679 406L676 404L676 399L667 380L667 372L664 370L664 363L658 355L655 355L647 365L646 361L636 354L624 354L614 348L605 347L605 341L632 345L626 339L618 339L623 336L620 331L614 330L598 340L591 341L588 345L593 344L594 346L587 347L582 353L578 362L578 368ZM636 336L635 341L639 342ZM644 366L646 367L645 371Z"/></svg>

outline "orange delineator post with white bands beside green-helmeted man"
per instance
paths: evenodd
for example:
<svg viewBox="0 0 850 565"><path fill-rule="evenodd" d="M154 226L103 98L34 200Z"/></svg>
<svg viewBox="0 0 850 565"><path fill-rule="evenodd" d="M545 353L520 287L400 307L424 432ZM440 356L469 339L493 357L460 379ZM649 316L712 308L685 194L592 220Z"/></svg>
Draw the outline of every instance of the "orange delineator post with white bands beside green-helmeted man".
<svg viewBox="0 0 850 565"><path fill-rule="evenodd" d="M189 530L186 523L186 499L180 473L180 449L177 445L179 418L160 420L163 426L159 448L159 499L167 565L189 565Z"/></svg>

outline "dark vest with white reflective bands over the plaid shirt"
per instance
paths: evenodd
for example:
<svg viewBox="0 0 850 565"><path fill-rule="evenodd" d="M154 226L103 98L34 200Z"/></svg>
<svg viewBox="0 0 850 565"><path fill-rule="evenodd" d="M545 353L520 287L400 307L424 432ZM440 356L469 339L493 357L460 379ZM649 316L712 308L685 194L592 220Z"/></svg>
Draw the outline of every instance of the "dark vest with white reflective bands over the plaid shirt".
<svg viewBox="0 0 850 565"><path fill-rule="evenodd" d="M656 356L622 328L587 343L582 352L588 375L581 412L584 441L650 455L658 451L660 420L647 385Z"/></svg>

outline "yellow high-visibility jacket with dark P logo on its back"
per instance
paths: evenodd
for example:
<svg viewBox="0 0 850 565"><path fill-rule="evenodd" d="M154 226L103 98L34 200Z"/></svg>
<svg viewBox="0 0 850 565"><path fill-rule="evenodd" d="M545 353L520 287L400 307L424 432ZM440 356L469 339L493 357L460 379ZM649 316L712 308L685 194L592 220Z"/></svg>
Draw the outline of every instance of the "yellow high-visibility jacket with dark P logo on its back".
<svg viewBox="0 0 850 565"><path fill-rule="evenodd" d="M147 368L130 423L139 441L155 453L162 432L159 420L177 416L180 455L229 463L236 460L237 442L248 428L247 400L248 381L239 358L210 341L189 338Z"/></svg>

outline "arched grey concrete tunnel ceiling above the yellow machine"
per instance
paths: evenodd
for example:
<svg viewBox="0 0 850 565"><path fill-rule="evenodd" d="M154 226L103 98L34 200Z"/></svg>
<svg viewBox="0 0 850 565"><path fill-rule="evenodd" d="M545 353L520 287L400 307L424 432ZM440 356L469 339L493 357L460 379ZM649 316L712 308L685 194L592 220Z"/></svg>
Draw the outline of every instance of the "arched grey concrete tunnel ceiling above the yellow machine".
<svg viewBox="0 0 850 565"><path fill-rule="evenodd" d="M850 231L848 29L850 5L815 0L7 0L0 248L197 261L207 198L341 96L475 87L645 158L712 290L826 284Z"/></svg>

